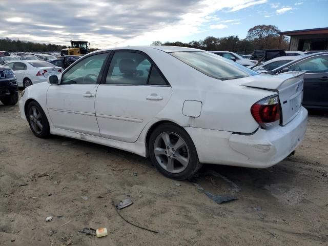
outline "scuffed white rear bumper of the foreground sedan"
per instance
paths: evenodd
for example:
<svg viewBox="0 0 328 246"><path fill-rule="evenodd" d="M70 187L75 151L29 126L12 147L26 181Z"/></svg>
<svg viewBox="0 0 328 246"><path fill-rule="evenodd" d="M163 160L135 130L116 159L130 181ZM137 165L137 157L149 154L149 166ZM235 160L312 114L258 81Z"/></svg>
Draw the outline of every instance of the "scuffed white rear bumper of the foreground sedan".
<svg viewBox="0 0 328 246"><path fill-rule="evenodd" d="M194 141L199 161L249 168L271 167L290 155L303 140L308 111L301 108L285 126L258 129L252 135L185 128Z"/></svg>

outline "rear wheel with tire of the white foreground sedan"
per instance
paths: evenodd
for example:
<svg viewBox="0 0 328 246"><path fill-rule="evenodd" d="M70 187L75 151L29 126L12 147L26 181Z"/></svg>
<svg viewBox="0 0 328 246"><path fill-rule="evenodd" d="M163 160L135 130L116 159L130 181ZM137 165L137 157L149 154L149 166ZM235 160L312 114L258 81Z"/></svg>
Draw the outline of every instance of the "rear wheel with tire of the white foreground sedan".
<svg viewBox="0 0 328 246"><path fill-rule="evenodd" d="M176 180L192 177L201 167L191 137L170 123L160 125L152 132L149 155L159 172Z"/></svg>

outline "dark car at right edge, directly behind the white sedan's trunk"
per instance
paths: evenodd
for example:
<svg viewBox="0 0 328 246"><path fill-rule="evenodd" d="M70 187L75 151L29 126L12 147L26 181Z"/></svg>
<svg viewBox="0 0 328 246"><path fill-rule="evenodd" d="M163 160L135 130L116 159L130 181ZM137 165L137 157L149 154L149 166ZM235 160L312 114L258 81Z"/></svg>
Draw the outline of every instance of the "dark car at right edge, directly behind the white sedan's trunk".
<svg viewBox="0 0 328 246"><path fill-rule="evenodd" d="M305 108L328 110L328 52L302 56L268 74L287 71L305 72L302 103Z"/></svg>

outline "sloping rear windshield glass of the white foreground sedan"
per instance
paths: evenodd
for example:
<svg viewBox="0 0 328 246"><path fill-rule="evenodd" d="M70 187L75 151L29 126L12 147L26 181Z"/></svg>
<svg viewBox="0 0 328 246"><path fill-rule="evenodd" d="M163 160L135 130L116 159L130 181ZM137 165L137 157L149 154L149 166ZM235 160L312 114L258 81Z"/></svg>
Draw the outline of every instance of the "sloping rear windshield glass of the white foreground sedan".
<svg viewBox="0 0 328 246"><path fill-rule="evenodd" d="M258 72L210 52L189 51L170 54L199 72L220 80L244 78L258 74Z"/></svg>

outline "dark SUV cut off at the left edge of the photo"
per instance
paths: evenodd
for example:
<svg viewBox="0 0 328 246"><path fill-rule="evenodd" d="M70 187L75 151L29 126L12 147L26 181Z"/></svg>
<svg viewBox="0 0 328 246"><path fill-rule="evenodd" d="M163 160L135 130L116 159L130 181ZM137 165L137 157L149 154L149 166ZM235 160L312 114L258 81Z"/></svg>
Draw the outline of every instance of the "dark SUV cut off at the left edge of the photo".
<svg viewBox="0 0 328 246"><path fill-rule="evenodd" d="M0 101L4 105L15 105L18 101L18 85L11 68L0 65Z"/></svg>

